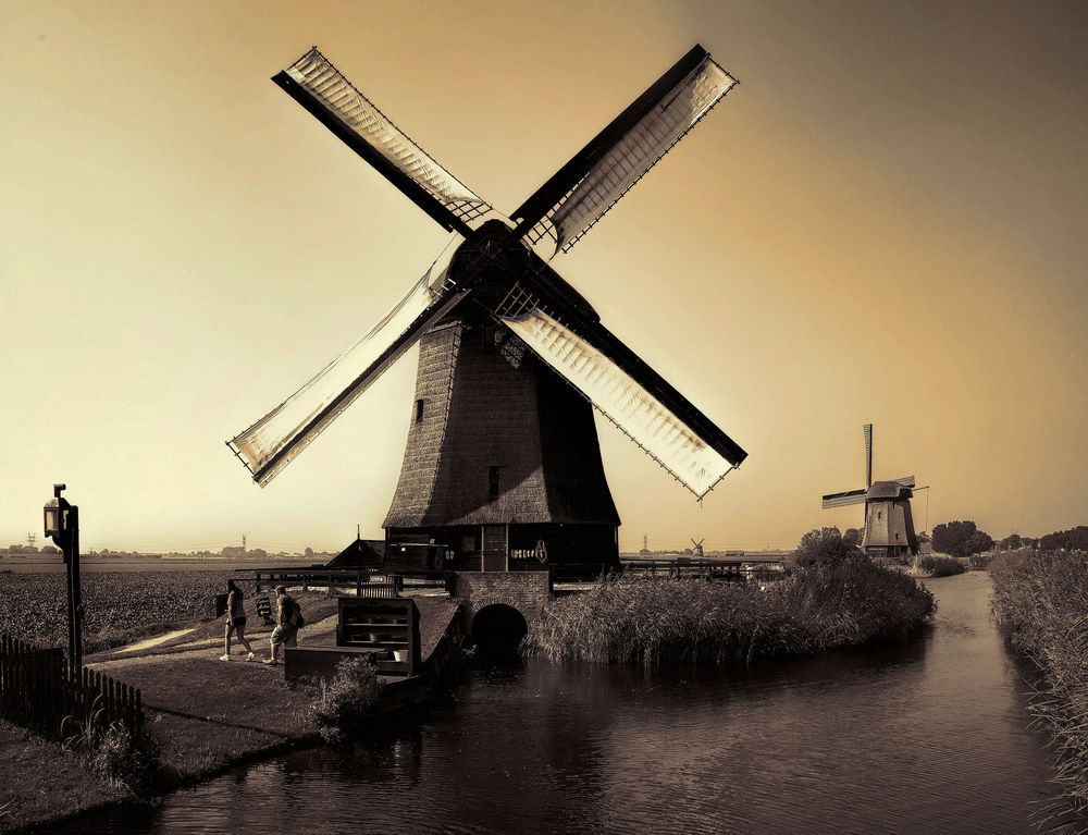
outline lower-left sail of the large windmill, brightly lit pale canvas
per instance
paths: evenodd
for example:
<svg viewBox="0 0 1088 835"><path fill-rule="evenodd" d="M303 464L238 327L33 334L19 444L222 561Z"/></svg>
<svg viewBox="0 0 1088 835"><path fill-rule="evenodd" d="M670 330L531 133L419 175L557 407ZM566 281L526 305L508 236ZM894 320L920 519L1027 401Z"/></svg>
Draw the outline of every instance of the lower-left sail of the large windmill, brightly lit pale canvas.
<svg viewBox="0 0 1088 835"><path fill-rule="evenodd" d="M367 335L227 445L268 484L386 368L467 295L448 280L455 241Z"/></svg>

